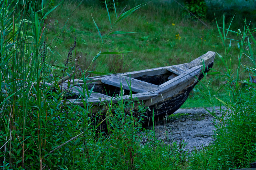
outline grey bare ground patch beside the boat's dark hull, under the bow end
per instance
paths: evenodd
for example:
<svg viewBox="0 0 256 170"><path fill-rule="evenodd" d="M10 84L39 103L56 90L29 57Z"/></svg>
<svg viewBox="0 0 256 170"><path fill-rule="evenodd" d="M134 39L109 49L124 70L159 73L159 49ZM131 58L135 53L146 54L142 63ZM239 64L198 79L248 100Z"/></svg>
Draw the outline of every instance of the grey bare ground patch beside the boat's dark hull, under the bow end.
<svg viewBox="0 0 256 170"><path fill-rule="evenodd" d="M218 111L218 108L215 108L215 111ZM213 118L204 108L178 109L167 121L162 120L155 125L156 137L167 144L175 141L179 144L184 141L187 143L184 149L200 150L202 145L209 145L213 140ZM149 128L153 129L152 126ZM143 138L143 143L147 141L147 138Z"/></svg>

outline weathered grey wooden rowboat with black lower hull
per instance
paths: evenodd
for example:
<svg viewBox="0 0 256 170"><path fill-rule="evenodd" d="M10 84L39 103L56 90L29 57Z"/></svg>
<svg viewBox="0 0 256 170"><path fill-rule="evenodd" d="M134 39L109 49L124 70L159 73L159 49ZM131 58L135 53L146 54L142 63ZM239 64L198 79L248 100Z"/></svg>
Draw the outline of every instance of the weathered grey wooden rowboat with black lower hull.
<svg viewBox="0 0 256 170"><path fill-rule="evenodd" d="M123 93L123 99L129 99L131 91L132 99L143 101L151 110L146 114L148 119L144 119L144 123L148 124L150 119L152 121L153 110L157 122L165 118L166 114L173 114L186 101L189 92L203 77L202 63L205 71L208 71L214 63L214 57L215 52L208 51L190 63L91 77L86 83L88 90L93 90L89 97L85 94L85 98L89 103L99 106L102 101L112 100L112 103L116 103L120 100L116 95L120 93ZM68 102L84 107L79 98L80 93L86 91L83 89L84 81L75 79L72 83L76 87L72 91L73 100ZM63 83L63 86L67 86L67 83ZM92 112L97 112L97 108L94 107Z"/></svg>

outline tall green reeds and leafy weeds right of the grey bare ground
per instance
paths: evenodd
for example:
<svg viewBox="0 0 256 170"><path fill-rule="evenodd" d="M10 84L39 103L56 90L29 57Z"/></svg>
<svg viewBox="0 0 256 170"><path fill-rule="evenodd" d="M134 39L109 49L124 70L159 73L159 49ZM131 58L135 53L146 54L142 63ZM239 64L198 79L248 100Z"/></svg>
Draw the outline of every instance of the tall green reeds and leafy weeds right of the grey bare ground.
<svg viewBox="0 0 256 170"><path fill-rule="evenodd" d="M222 70L215 70L212 74L219 74L220 77L225 78L227 83L222 88L226 91L226 98L221 100L216 97L222 107L220 114L212 112L216 128L214 141L209 147L194 153L191 158L191 169L248 168L249 163L255 161L256 65L254 51L256 41L254 32L256 28L251 29L245 20L243 26L237 30L231 30L231 23L225 27L224 14L222 22L223 27L219 27L217 23L217 29L225 55L217 54L225 67ZM236 35L236 39L229 38L230 34ZM237 46L235 56L230 54L232 46ZM232 61L236 61L237 67L232 67ZM241 82L244 83L242 87Z"/></svg>

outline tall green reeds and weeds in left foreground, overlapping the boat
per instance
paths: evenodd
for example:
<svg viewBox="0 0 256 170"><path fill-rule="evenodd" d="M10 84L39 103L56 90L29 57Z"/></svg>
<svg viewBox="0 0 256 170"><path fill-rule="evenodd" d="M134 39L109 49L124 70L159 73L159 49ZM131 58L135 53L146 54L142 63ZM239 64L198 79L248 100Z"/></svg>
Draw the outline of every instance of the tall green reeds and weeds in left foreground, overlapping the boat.
<svg viewBox="0 0 256 170"><path fill-rule="evenodd" d="M104 115L98 112L95 117L106 120L108 135L101 130L102 119L97 122L98 119L91 115L92 106L87 98L84 108L65 104L72 87L69 83L68 87L59 84L64 77L74 78L74 58L80 40L70 37L73 42L62 56L66 58L63 67L53 64L51 57L59 54L57 48L52 47L49 27L45 23L58 5L47 11L48 3L24 2L25 5L1 1L0 169L137 169L145 166L145 159L150 163L155 157L163 160L161 167L166 166L166 161L180 167L178 164L184 156L168 155L175 155L182 148L172 151L173 147L169 147L164 157L152 156L155 149L161 153L164 145L154 144L152 148L152 143L159 143L157 140L141 144L142 114L146 112L142 104L135 107L131 99L106 104ZM116 14L115 22L111 22L109 16L109 24L114 27L143 5L146 3L121 13L119 17ZM102 38L96 22L95 19L93 23L101 47L88 69L82 72L84 80L87 72L93 73L89 71L93 70L90 66L100 55L127 53L103 51L108 36L128 32L111 31L111 28ZM65 30L61 31L58 35L65 33ZM62 71L61 77L55 74L57 69ZM82 93L89 96L91 91ZM150 138L151 133L147 134ZM150 166L152 169L156 167L154 164Z"/></svg>

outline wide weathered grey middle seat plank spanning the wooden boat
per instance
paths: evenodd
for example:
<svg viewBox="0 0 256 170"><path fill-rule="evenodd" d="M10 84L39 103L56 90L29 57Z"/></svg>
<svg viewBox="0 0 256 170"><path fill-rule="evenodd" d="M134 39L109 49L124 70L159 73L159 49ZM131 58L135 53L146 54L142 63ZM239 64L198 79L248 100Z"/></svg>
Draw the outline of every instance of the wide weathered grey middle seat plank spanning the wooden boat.
<svg viewBox="0 0 256 170"><path fill-rule="evenodd" d="M161 88L160 86L157 86L155 84L151 84L145 81L137 80L123 75L111 75L102 77L101 82L115 87L120 87L120 80L122 82L123 89L130 90L128 83L131 83L131 90L136 93L152 92Z"/></svg>

